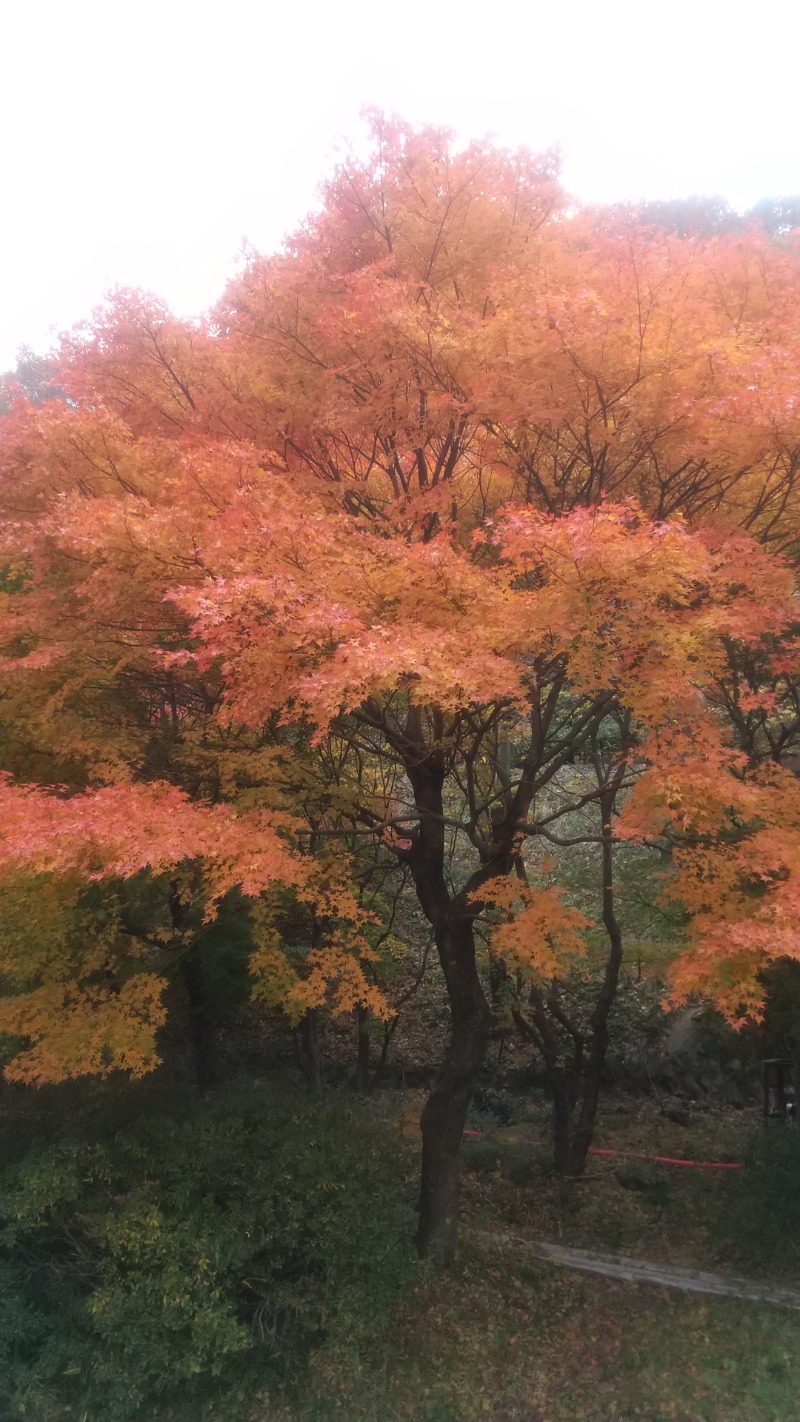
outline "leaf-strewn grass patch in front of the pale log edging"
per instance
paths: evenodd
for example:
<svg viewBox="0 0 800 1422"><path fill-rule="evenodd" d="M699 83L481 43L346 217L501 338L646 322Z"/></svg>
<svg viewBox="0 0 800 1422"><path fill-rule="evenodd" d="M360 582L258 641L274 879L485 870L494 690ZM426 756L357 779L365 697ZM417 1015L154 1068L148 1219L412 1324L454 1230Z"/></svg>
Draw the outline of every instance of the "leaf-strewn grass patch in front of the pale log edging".
<svg viewBox="0 0 800 1422"><path fill-rule="evenodd" d="M794 1314L497 1249L421 1285L369 1348L320 1355L291 1422L796 1422L799 1398Z"/></svg>

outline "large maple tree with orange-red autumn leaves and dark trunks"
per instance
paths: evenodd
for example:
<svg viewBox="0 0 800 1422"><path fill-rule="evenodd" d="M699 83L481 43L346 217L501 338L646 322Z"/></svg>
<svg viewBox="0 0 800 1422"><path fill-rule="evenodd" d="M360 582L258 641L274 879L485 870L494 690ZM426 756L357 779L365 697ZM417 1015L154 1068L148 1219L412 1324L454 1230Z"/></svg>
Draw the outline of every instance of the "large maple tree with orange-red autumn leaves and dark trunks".
<svg viewBox="0 0 800 1422"><path fill-rule="evenodd" d="M608 940L564 1166L622 961L620 843L674 846L683 990L755 1005L759 964L797 954L800 286L791 243L604 225L547 156L372 128L203 323L119 292L64 341L70 402L4 417L0 860L75 912L75 886L149 873L168 939L171 904L236 889L257 991L294 1015L391 1011L365 856L406 875L450 1004L419 1226L448 1263L492 1021L476 926L558 1084L588 920L553 845L594 846ZM118 939L4 948L24 1079L152 1062L158 973Z"/></svg>

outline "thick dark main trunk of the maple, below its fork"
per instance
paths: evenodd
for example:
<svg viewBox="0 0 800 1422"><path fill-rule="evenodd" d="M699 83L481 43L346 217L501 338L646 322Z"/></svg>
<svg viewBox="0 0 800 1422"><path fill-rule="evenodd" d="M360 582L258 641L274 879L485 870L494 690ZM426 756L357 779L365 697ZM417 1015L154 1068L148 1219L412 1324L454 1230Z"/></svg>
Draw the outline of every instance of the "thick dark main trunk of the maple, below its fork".
<svg viewBox="0 0 800 1422"><path fill-rule="evenodd" d="M490 1011L477 967L472 920L436 933L450 998L452 1035L422 1112L419 1254L438 1268L456 1257L460 1142L472 1092L489 1047Z"/></svg>

